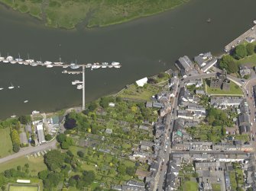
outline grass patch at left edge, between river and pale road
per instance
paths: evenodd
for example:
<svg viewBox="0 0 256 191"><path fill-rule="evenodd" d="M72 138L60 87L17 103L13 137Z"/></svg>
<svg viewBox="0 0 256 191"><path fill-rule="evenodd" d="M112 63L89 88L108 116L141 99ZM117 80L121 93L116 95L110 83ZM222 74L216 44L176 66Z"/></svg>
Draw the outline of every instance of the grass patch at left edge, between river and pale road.
<svg viewBox="0 0 256 191"><path fill-rule="evenodd" d="M10 128L0 129L0 158L12 153Z"/></svg>

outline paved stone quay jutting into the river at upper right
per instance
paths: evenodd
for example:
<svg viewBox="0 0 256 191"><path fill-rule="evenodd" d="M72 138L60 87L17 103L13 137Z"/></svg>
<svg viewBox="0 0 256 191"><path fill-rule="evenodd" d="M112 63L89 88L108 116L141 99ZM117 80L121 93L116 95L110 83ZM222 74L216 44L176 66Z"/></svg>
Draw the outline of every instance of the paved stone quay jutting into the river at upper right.
<svg viewBox="0 0 256 191"><path fill-rule="evenodd" d="M256 23L254 23L254 24L256 24ZM248 41L256 40L256 25L254 25L254 27L251 27L245 33L242 33L241 36L237 37L231 43L228 43L228 45L225 46L224 51L226 53L230 52L230 50L234 49L235 46L237 46L239 43L241 43L245 40L248 40Z"/></svg>

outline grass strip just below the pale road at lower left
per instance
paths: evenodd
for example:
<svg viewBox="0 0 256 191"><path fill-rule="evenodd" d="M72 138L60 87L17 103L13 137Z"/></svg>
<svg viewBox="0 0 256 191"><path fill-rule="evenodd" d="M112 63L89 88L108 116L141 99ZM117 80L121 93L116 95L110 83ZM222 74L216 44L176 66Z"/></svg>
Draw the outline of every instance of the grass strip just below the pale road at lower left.
<svg viewBox="0 0 256 191"><path fill-rule="evenodd" d="M24 167L24 164L29 164L29 171L32 176L37 176L37 173L41 170L47 170L47 166L44 164L43 157L26 157L15 158L14 160L0 164L0 172L11 168L17 168L18 166Z"/></svg>

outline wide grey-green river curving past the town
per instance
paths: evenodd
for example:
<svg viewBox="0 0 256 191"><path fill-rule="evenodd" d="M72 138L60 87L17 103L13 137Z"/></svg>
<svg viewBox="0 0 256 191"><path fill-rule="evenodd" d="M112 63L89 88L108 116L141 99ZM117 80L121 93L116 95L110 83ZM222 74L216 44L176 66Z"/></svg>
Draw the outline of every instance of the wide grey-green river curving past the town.
<svg viewBox="0 0 256 191"><path fill-rule="evenodd" d="M86 101L95 100L133 81L174 68L183 55L223 47L252 26L255 0L191 0L147 18L111 27L60 30L44 27L27 14L0 5L2 56L56 62L122 62L120 69L86 72ZM211 18L212 22L206 20ZM0 118L78 106L82 91L71 84L79 75L63 75L60 68L0 63ZM10 84L16 86L8 90ZM20 86L20 88L17 88ZM29 100L24 103L24 100Z"/></svg>

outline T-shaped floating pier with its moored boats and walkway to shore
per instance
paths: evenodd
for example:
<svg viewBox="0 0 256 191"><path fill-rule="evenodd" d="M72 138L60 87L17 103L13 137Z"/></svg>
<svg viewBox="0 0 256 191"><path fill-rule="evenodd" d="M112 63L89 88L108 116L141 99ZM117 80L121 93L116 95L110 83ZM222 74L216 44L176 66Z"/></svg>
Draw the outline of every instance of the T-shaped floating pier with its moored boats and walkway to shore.
<svg viewBox="0 0 256 191"><path fill-rule="evenodd" d="M101 64L96 62L93 64L67 64L64 62L35 62L33 59L29 59L29 60L22 60L22 59L13 59L12 56L8 56L8 57L1 57L0 56L0 62L3 63L11 63L11 64L23 64L23 65L31 65L31 66L37 66L37 65L41 65L41 66L46 66L47 68L53 68L53 67L62 67L62 68L72 68L72 69L78 69L82 67L82 71L66 71L64 70L62 73L63 74L68 74L68 75L83 75L83 81L78 81L74 84L79 84L82 83L83 86L83 104L82 104L82 110L85 110L86 108L86 91L85 91L85 73L86 73L86 68L90 68L91 70L93 69L98 69L98 68L121 68L122 65L119 62L112 62L111 64L107 63L107 62L102 62Z"/></svg>

